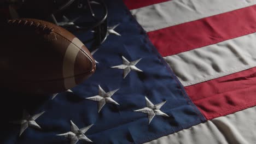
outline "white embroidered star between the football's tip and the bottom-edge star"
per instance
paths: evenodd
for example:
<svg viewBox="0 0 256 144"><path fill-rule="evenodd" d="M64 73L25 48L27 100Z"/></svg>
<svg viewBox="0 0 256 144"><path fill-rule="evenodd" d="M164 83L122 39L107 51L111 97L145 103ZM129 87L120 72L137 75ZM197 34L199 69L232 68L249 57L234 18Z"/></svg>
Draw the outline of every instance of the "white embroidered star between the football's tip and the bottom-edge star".
<svg viewBox="0 0 256 144"><path fill-rule="evenodd" d="M94 101L98 101L98 112L101 111L102 107L106 104L106 103L110 103L110 104L115 104L115 105L119 105L115 100L113 100L111 97L112 95L117 92L119 89L115 89L114 91L110 91L110 92L105 92L101 86L98 86L98 95L95 95L94 97L89 97L89 98L85 98L85 99L89 99L89 100L94 100Z"/></svg>

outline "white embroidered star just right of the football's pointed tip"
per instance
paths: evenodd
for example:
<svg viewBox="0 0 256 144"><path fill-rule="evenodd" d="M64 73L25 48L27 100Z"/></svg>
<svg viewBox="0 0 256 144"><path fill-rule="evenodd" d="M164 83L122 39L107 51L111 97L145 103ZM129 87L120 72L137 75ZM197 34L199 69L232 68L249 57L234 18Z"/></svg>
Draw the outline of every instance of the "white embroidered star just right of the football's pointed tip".
<svg viewBox="0 0 256 144"><path fill-rule="evenodd" d="M129 62L124 56L123 58L123 64L117 65L111 68L116 68L116 69L123 69L124 70L124 79L125 77L130 73L131 70L138 71L138 72L143 72L142 70L138 69L135 65L141 61L142 58L137 59L136 61Z"/></svg>

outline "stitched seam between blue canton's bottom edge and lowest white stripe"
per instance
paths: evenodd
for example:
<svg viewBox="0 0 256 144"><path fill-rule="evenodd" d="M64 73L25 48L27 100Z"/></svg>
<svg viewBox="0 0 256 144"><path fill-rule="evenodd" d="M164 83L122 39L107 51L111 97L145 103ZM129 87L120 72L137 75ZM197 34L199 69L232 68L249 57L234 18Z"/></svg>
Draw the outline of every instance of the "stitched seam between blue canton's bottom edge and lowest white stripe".
<svg viewBox="0 0 256 144"><path fill-rule="evenodd" d="M180 131L180 130L183 130L183 129L188 129L190 127L193 127L194 125L199 124L198 120L200 120L200 118L197 118L196 121L194 121L194 122L187 123L187 124L182 124L184 127L180 126L180 127L177 127L177 128L172 128L172 131L164 131L164 132L162 132L162 133L160 133L158 135L152 134L152 135L148 136L147 139L139 140L137 142L138 143L149 142L149 141L158 139L159 137L170 135L170 134L176 133L177 131Z"/></svg>

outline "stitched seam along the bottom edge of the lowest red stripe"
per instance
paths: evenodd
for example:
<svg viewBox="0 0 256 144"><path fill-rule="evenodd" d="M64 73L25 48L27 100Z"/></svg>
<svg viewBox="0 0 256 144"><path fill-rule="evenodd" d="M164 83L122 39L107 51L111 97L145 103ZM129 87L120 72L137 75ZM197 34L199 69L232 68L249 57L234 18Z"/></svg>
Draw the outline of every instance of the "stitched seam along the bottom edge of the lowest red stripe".
<svg viewBox="0 0 256 144"><path fill-rule="evenodd" d="M238 107L236 107L234 109L226 110L226 111L224 111L222 113L216 113L216 114L210 115L210 116L208 116L206 118L208 120L211 120L211 119L216 118L216 117L226 116L226 115L229 115L230 113L238 112L240 110L244 110L244 109L247 109L249 107L253 107L253 106L255 106L255 104L256 104L256 100L254 100L252 103L248 103L246 105L238 106Z"/></svg>

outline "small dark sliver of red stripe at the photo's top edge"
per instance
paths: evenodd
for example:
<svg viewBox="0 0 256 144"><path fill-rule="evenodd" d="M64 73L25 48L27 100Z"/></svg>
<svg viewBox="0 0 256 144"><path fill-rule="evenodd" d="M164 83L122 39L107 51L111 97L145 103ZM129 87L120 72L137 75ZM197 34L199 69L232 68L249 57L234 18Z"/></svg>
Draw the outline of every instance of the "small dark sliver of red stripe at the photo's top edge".
<svg viewBox="0 0 256 144"><path fill-rule="evenodd" d="M148 5L162 3L170 0L123 0L125 5L130 9L138 9L142 7L146 7Z"/></svg>

